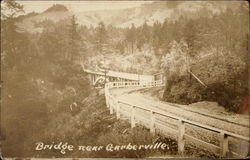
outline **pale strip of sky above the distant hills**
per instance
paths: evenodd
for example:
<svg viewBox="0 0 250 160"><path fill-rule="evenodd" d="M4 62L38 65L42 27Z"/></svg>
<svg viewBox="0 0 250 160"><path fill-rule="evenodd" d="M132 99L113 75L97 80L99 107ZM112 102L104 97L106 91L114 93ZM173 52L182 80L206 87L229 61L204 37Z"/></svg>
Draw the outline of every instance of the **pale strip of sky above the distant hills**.
<svg viewBox="0 0 250 160"><path fill-rule="evenodd" d="M63 4L73 12L84 12L104 9L123 9L140 6L150 1L17 1L24 6L26 13L43 12L53 4Z"/></svg>

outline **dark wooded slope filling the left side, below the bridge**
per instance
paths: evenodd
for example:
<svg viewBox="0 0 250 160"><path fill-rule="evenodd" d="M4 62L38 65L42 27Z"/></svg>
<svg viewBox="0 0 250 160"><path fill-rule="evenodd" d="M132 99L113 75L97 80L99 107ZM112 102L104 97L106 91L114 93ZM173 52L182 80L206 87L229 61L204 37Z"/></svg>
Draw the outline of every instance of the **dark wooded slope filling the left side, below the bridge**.
<svg viewBox="0 0 250 160"><path fill-rule="evenodd" d="M67 25L62 23L61 28L59 24L48 23L41 34L29 34L16 25L22 6L13 1L5 3L12 13L1 15L3 157L121 157L126 151L76 150L62 154L56 150L35 149L39 142L107 145L111 143L107 137L113 137L116 139L112 143L119 145L131 141L143 143L145 138L150 143L156 139L145 128L128 129L127 122L116 122L109 114L104 95L99 95L89 84L78 64L81 37L74 17ZM68 45L60 48L65 44ZM145 157L148 154L142 151L126 155Z"/></svg>

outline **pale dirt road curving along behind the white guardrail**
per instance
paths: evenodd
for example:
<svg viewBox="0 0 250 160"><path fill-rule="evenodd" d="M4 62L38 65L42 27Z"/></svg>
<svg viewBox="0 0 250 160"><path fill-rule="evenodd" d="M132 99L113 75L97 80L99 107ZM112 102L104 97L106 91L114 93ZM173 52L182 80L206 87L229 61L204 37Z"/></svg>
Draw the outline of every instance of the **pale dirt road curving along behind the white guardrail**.
<svg viewBox="0 0 250 160"><path fill-rule="evenodd" d="M119 100L131 102L147 108L157 108L162 111L183 117L188 120L206 124L219 129L230 131L244 136L249 136L249 116L227 113L220 108L220 112L210 112L220 106L214 106L213 102L199 102L193 105L178 105L156 100L145 93L151 89L140 87L111 89L111 93ZM143 91L143 92L142 92ZM214 104L211 106L211 104ZM202 106L203 105L203 106ZM197 107L198 106L198 107ZM201 107L202 106L202 107ZM213 110L204 109L210 107ZM217 109L218 110L218 109ZM210 113L209 113L210 112Z"/></svg>

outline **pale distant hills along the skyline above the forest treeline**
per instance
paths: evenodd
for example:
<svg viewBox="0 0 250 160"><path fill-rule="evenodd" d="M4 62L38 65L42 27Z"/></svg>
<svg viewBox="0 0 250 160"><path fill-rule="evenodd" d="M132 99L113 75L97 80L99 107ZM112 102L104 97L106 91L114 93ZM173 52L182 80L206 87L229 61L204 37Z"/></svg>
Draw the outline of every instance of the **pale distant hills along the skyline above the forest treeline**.
<svg viewBox="0 0 250 160"><path fill-rule="evenodd" d="M40 14L29 14L22 18L19 25L30 32L41 31L41 28L35 28L34 23L43 20L52 20L54 22L67 19L73 14L81 25L97 26L100 21L106 25L115 27L130 27L132 23L140 26L144 22L153 25L154 22L177 21L180 17L196 19L201 16L209 17L219 14L226 7L236 8L238 2L230 1L158 1L143 4L139 7L120 9L120 10L96 10L88 12L73 13L67 7L61 4L55 4Z"/></svg>

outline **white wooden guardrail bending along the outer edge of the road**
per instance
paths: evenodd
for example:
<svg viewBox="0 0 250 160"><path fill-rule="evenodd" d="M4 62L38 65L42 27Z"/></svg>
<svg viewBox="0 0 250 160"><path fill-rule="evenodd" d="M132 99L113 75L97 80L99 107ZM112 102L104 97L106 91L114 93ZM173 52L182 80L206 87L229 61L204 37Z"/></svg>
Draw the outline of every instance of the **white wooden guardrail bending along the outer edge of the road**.
<svg viewBox="0 0 250 160"><path fill-rule="evenodd" d="M219 155L220 157L226 157L226 155L230 152L233 157L244 157L247 155L241 155L234 151L229 151L229 137L241 140L247 143L247 147L249 147L249 137L245 137L242 135L238 135L232 132L228 132L222 129L214 128L208 125L200 124L194 121L190 121L187 119L183 119L181 117L171 115L167 112L160 111L155 109L145 108L143 106L134 105L125 101L121 101L112 96L109 92L111 88L123 88L123 87L156 87L163 86L161 80L152 81L152 82L109 82L105 84L105 97L106 97L106 105L110 109L110 114L116 112L117 119L120 119L121 116L130 119L131 127L135 127L137 122L141 122L144 126L150 129L152 134L155 134L156 131L168 131L169 133L174 133L174 137L178 142L178 152L182 154L184 152L184 146L187 142L193 142L201 147L205 147L212 151L213 153ZM124 107L124 105L126 107ZM123 109L123 110L122 110ZM126 110L126 111L125 111ZM140 116L139 112L144 112L145 115L149 116ZM174 129L173 127L169 127L168 122L165 121L163 124L160 121L161 118L167 118L169 121L175 121L177 123L177 127ZM216 133L219 136L219 145L211 144L206 141L203 141L194 136L188 135L185 133L187 127L186 125L198 127L199 129L204 129L206 131L210 131ZM163 129L164 128L164 129ZM249 153L248 153L249 154Z"/></svg>

